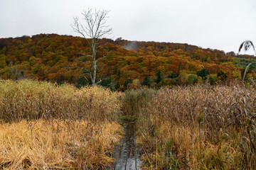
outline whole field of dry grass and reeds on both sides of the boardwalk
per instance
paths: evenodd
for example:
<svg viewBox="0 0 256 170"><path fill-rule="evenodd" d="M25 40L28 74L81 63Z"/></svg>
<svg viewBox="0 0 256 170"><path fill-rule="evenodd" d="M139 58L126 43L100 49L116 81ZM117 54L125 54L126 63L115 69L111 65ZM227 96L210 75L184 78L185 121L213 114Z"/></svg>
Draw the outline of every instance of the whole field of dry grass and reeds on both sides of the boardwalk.
<svg viewBox="0 0 256 170"><path fill-rule="evenodd" d="M0 81L1 169L105 169L136 120L143 169L256 169L256 88L175 86L125 93Z"/></svg>

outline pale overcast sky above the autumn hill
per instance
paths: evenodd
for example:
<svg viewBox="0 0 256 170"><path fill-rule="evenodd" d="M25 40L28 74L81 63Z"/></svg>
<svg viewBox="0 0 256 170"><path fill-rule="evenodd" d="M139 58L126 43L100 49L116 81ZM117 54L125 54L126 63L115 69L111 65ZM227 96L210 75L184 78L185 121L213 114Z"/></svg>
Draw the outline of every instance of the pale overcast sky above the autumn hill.
<svg viewBox="0 0 256 170"><path fill-rule="evenodd" d="M238 52L256 44L256 0L0 0L0 38L57 33L87 8L110 10L112 39L181 42ZM252 54L252 49L247 54Z"/></svg>

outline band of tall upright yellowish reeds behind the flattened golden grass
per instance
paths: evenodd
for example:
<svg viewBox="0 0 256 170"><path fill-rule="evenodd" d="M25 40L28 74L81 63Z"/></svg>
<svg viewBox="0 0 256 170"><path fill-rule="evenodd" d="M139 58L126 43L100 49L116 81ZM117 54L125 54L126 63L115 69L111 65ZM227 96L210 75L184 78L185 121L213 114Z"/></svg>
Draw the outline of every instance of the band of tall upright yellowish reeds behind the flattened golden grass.
<svg viewBox="0 0 256 170"><path fill-rule="evenodd" d="M0 81L0 119L38 118L114 120L122 94L97 86L76 89L39 81Z"/></svg>

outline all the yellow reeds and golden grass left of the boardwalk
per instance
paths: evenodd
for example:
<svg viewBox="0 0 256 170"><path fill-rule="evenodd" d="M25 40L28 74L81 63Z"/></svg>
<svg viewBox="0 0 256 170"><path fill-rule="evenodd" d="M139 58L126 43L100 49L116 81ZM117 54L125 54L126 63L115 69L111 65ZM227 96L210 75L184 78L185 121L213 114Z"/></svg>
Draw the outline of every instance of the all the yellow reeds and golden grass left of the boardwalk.
<svg viewBox="0 0 256 170"><path fill-rule="evenodd" d="M0 169L105 169L122 135L122 94L0 81Z"/></svg>

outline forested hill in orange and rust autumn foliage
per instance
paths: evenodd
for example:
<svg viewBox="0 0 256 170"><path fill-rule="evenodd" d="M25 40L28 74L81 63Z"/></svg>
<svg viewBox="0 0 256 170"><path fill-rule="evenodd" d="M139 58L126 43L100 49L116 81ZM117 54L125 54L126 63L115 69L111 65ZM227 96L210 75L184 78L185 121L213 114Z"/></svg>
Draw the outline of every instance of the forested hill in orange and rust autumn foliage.
<svg viewBox="0 0 256 170"><path fill-rule="evenodd" d="M98 50L97 75L103 86L127 89L127 86L162 86L193 84L208 79L210 83L240 79L247 63L248 76L256 78L252 56L234 52L202 49L195 45L167 42L131 42L103 39L108 42ZM84 54L84 55L82 55ZM32 37L0 39L1 79L39 79L85 85L91 66L90 47L84 38L40 34Z"/></svg>

